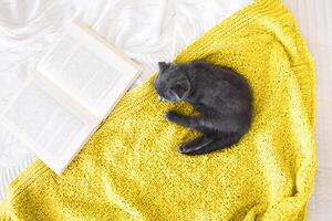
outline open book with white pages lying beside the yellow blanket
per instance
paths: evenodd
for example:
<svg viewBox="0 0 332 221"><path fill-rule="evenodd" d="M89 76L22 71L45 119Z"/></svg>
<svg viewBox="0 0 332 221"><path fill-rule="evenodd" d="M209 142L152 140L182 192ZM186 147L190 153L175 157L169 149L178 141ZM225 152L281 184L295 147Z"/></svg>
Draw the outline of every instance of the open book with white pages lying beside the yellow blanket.
<svg viewBox="0 0 332 221"><path fill-rule="evenodd" d="M0 122L60 175L139 72L90 29L71 22Z"/></svg>

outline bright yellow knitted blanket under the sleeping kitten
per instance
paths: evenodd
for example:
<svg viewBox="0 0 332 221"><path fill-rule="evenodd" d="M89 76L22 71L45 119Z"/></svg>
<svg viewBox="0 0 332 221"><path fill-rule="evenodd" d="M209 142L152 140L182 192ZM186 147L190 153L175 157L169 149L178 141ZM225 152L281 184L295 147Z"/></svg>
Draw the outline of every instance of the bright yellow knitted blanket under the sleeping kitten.
<svg viewBox="0 0 332 221"><path fill-rule="evenodd" d="M253 90L250 131L231 148L185 156L197 134L168 123L153 80L128 92L65 172L40 160L11 185L0 220L305 220L315 173L314 70L292 15L258 0L175 59L230 66Z"/></svg>

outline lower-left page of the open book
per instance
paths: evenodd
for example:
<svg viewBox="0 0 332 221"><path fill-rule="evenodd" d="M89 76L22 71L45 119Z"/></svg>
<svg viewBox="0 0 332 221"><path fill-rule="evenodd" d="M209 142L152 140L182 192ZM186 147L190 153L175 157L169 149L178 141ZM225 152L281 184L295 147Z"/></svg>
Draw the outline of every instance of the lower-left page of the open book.
<svg viewBox="0 0 332 221"><path fill-rule="evenodd" d="M58 173L98 125L87 113L87 117L77 115L61 104L59 101L65 99L61 96L54 98L31 81L1 117L3 125Z"/></svg>

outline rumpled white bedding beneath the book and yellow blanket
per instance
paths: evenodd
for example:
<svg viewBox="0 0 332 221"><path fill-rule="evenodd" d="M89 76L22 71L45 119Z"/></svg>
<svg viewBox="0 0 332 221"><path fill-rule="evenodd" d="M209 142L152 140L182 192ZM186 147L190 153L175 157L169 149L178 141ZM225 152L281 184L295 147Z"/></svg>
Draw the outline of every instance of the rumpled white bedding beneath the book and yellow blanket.
<svg viewBox="0 0 332 221"><path fill-rule="evenodd" d="M141 63L145 81L158 61L170 61L185 45L252 0L0 0L0 112L72 17ZM310 220L332 220L332 3L286 0L317 60L318 157ZM328 38L330 36L330 39ZM0 199L8 182L33 154L0 125Z"/></svg>

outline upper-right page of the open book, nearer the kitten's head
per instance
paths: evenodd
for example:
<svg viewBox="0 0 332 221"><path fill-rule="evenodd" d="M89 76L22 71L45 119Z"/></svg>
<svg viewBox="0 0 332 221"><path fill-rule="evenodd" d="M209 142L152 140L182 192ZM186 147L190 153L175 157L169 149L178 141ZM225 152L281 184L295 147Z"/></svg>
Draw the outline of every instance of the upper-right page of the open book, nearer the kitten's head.
<svg viewBox="0 0 332 221"><path fill-rule="evenodd" d="M39 70L103 119L139 72L75 24Z"/></svg>

